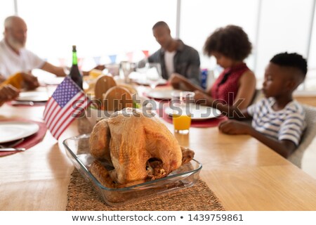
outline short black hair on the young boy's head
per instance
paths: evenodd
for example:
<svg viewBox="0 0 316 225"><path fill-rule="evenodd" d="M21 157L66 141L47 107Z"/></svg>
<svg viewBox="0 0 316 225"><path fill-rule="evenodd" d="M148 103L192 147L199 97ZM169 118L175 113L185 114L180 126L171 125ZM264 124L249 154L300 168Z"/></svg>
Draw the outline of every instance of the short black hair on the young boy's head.
<svg viewBox="0 0 316 225"><path fill-rule="evenodd" d="M278 53L271 58L270 63L275 63L279 66L296 68L302 72L303 77L305 77L308 71L307 61L298 53Z"/></svg>

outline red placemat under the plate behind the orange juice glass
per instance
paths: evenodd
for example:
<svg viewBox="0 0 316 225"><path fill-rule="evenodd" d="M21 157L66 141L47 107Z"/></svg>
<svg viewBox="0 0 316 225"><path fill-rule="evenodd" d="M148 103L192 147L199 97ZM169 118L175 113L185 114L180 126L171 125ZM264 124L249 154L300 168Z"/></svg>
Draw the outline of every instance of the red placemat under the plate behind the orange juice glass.
<svg viewBox="0 0 316 225"><path fill-rule="evenodd" d="M164 119L164 121L172 124L172 117L169 117L168 114L164 113L164 107L159 108L157 110L157 113L159 114L159 117L162 117L162 119ZM225 120L228 120L228 117L220 116L208 120L192 120L190 127L217 127L220 122Z"/></svg>

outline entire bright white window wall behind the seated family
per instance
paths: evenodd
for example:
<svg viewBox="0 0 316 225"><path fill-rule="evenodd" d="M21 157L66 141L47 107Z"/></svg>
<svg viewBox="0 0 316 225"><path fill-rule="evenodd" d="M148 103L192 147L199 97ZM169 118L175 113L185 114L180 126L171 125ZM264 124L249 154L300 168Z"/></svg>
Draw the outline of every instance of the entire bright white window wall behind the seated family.
<svg viewBox="0 0 316 225"><path fill-rule="evenodd" d="M254 46L246 62L261 86L265 66L276 53L308 58L299 90L316 93L316 0L1 0L0 20L20 15L28 26L27 49L55 65L71 65L77 45L81 68L99 63L137 62L159 49L152 25L164 20L173 37L193 46L201 68L220 69L203 55L206 38L218 27L243 27ZM4 29L2 25L2 29ZM2 32L0 34L2 38Z"/></svg>

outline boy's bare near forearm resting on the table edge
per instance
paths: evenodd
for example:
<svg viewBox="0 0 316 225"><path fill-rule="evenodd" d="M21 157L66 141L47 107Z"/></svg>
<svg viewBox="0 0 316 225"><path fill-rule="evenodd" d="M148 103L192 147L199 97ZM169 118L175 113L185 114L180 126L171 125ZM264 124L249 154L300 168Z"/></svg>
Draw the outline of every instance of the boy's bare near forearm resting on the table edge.
<svg viewBox="0 0 316 225"><path fill-rule="evenodd" d="M261 141L272 150L275 150L279 155L282 155L284 158L288 158L291 153L296 149L296 145L293 141L289 140L277 140L272 139L260 132L256 131L249 124L244 122L238 122L236 120L228 120L221 123L218 127L220 131L225 134L249 134L253 136L258 141Z"/></svg>

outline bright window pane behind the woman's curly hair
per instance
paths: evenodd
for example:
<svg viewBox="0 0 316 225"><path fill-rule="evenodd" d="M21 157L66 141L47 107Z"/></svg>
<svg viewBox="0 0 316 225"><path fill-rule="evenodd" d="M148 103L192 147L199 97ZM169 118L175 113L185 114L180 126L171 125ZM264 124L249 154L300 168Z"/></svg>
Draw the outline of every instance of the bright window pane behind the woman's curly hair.
<svg viewBox="0 0 316 225"><path fill-rule="evenodd" d="M180 37L199 51L202 68L213 69L216 67L216 60L213 57L209 59L202 53L206 38L218 27L233 24L243 27L251 43L255 44L257 14L258 0L181 1ZM256 46L247 59L251 69L254 69L254 53Z"/></svg>

